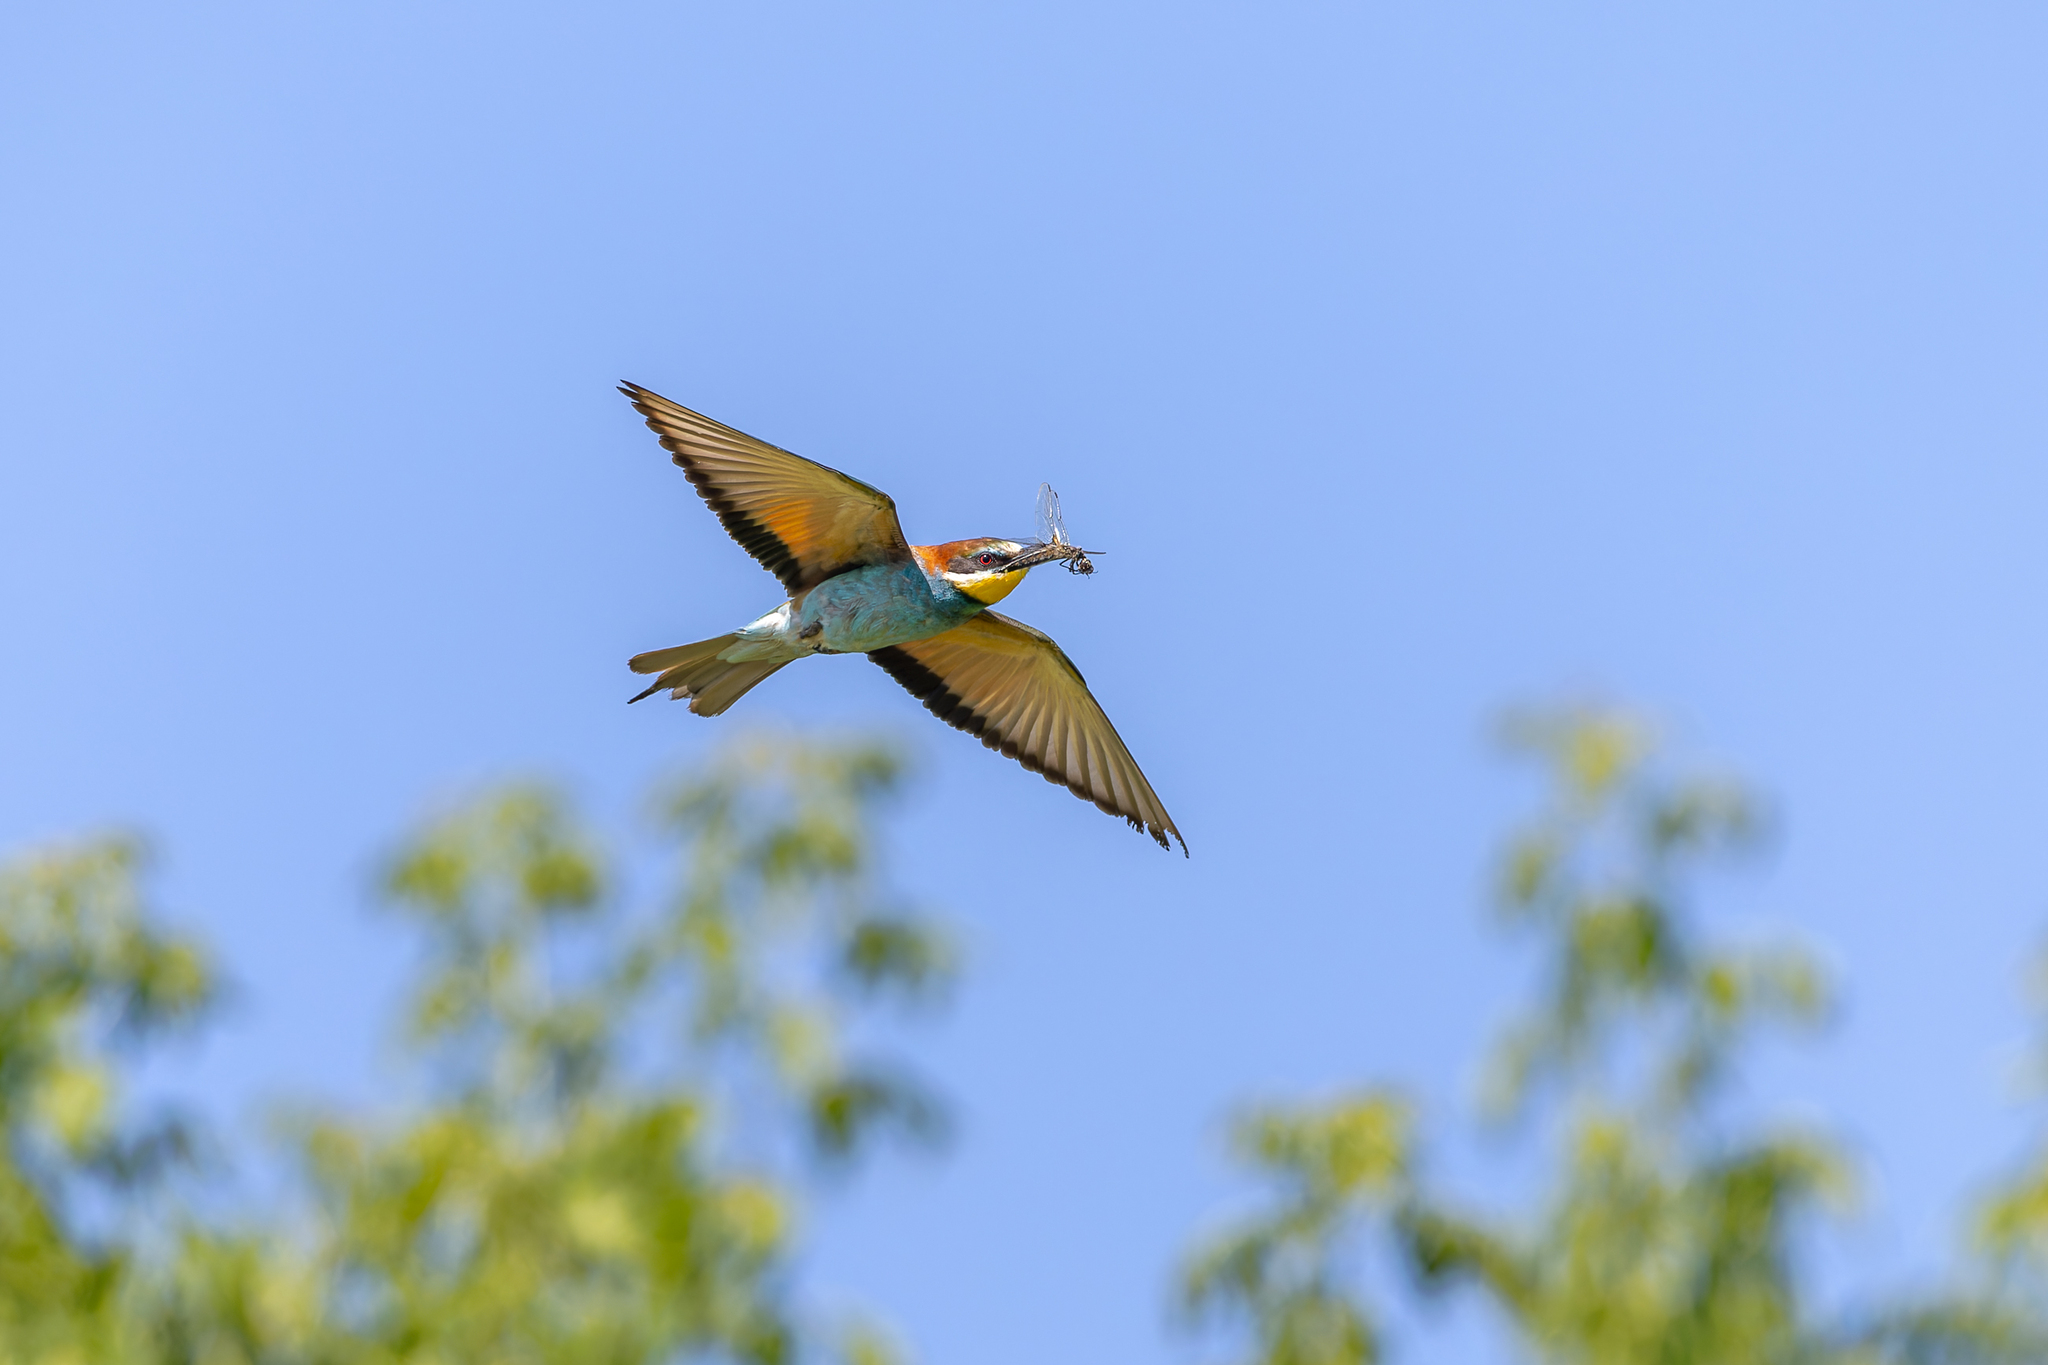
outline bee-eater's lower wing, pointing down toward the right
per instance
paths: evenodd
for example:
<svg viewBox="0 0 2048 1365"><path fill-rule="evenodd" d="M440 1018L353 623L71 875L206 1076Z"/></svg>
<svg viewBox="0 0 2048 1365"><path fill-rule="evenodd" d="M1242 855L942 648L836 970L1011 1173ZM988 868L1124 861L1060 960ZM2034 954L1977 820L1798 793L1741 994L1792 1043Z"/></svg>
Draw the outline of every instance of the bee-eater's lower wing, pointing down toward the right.
<svg viewBox="0 0 2048 1365"><path fill-rule="evenodd" d="M1049 634L981 612L944 634L877 649L868 659L946 724L1124 817L1159 847L1174 847L1174 835L1188 851L1081 671Z"/></svg>

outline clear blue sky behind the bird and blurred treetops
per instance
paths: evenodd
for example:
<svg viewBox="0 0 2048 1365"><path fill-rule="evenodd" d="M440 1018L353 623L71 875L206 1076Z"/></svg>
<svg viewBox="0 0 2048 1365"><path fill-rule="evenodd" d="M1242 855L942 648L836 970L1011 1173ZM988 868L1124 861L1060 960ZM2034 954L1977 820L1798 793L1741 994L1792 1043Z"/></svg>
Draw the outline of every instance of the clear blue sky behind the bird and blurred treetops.
<svg viewBox="0 0 2048 1365"><path fill-rule="evenodd" d="M383 1093L369 868L553 774L881 726L973 952L952 1156L817 1226L928 1361L1178 1359L1219 1121L1448 1121L1516 999L1511 702L1782 812L1726 923L1845 1011L1757 1103L1866 1158L1841 1283L2021 1150L2048 925L2048 16L1909 4L186 4L0 16L0 843L131 825L244 982L221 1113ZM1006 610L1190 862L860 659L727 718L627 655L776 602L612 393L1110 553ZM1004 814L989 819L995 804ZM1409 1359L1497 1359L1403 1322Z"/></svg>

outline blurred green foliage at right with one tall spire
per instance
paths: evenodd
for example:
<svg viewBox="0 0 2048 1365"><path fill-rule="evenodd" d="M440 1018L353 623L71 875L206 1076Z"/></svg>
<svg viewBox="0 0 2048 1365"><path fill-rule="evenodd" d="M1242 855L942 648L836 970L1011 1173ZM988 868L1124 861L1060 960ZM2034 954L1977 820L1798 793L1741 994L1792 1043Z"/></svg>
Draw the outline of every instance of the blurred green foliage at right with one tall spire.
<svg viewBox="0 0 2048 1365"><path fill-rule="evenodd" d="M1526 1207L1440 1189L1413 1107L1370 1089L1235 1126L1257 1209L1182 1273L1184 1316L1255 1365L1384 1355L1380 1293L1477 1293L1530 1359L1739 1365L2048 1359L2048 1152L1978 1222L1978 1273L1923 1300L1823 1312L1802 1228L1845 1205L1825 1134L1724 1103L1772 1029L1827 1017L1819 962L1702 933L1694 892L1761 833L1735 784L1671 774L1628 716L1522 716L1548 780L1495 902L1540 958L1536 1005L1493 1048L1479 1128L1532 1148ZM1376 1269L1374 1269L1376 1267Z"/></svg>

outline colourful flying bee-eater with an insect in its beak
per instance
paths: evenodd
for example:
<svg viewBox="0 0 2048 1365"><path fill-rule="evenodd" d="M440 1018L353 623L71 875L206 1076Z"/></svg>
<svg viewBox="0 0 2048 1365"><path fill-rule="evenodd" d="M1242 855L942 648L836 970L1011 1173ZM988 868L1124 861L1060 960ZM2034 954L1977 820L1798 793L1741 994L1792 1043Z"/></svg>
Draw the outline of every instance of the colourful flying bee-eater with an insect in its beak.
<svg viewBox="0 0 2048 1365"><path fill-rule="evenodd" d="M1120 814L1159 847L1171 849L1171 835L1188 851L1073 661L1051 636L989 610L1032 565L1094 569L1067 540L1057 499L1047 516L1040 497L1042 540L909 544L881 489L639 385L618 391L739 548L788 593L729 634L633 655L635 673L655 675L635 702L666 690L698 716L717 716L784 663L862 653L946 724Z"/></svg>

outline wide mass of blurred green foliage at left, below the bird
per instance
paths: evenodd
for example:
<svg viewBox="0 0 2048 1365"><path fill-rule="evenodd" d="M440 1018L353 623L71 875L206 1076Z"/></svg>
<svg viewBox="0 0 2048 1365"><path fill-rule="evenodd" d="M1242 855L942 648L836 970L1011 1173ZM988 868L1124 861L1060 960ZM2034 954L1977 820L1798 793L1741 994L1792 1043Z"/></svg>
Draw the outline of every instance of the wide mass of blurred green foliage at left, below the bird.
<svg viewBox="0 0 2048 1365"><path fill-rule="evenodd" d="M877 1007L950 974L870 876L897 780L872 745L729 751L662 794L649 905L545 790L428 825L383 876L422 941L418 1097L297 1115L299 1197L242 1226L166 1212L190 1144L125 1121L115 1087L119 1048L203 1011L205 956L156 927L129 845L16 864L0 1361L891 1359L807 1316L791 1254L809 1169L940 1128L870 1054Z"/></svg>

